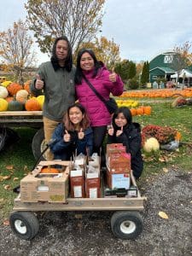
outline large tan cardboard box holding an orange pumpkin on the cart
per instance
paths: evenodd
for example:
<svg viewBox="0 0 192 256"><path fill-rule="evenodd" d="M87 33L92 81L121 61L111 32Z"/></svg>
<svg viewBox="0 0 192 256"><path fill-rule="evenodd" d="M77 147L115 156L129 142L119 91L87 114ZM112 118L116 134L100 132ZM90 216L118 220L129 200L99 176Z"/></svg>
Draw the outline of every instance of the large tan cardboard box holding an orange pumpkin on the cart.
<svg viewBox="0 0 192 256"><path fill-rule="evenodd" d="M44 166L62 166L60 173L40 173ZM38 166L20 181L22 202L66 202L68 197L69 161L41 161Z"/></svg>

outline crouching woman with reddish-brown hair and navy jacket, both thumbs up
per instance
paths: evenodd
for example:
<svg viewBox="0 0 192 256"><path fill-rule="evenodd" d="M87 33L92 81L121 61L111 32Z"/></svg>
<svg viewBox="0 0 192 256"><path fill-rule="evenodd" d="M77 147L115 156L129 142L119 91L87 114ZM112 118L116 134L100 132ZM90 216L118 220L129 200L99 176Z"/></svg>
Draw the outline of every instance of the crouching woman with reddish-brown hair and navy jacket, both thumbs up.
<svg viewBox="0 0 192 256"><path fill-rule="evenodd" d="M54 159L70 160L75 153L92 154L92 130L90 119L85 109L79 103L74 103L67 108L63 122L53 133L50 145Z"/></svg>

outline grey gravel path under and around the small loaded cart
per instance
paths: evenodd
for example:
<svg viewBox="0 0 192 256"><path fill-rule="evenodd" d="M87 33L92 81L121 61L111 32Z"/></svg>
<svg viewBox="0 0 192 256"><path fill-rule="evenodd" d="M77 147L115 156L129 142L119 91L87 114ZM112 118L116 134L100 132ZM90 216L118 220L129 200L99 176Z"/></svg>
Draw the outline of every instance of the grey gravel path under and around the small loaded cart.
<svg viewBox="0 0 192 256"><path fill-rule="evenodd" d="M142 195L148 201L136 241L113 236L111 212L83 212L82 218L74 218L74 212L49 212L32 241L20 240L9 226L0 227L0 255L192 255L192 172L169 170L144 184ZM160 218L159 211L169 218Z"/></svg>

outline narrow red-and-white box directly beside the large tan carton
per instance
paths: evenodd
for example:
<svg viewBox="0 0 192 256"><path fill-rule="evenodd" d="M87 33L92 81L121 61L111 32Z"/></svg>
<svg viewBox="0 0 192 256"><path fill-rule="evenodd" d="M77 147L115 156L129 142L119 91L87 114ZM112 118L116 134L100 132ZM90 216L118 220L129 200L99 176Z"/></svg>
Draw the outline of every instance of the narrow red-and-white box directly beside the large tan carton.
<svg viewBox="0 0 192 256"><path fill-rule="evenodd" d="M84 197L84 170L70 171L71 197Z"/></svg>

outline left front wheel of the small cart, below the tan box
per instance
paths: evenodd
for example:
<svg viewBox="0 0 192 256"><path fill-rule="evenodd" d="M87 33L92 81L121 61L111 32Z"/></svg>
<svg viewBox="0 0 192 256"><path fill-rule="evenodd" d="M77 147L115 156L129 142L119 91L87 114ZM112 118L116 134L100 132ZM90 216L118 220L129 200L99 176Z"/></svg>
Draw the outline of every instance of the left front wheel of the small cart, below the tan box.
<svg viewBox="0 0 192 256"><path fill-rule="evenodd" d="M38 234L38 218L32 212L13 212L9 217L11 229L24 240L31 240Z"/></svg>

